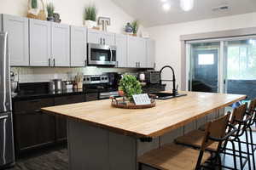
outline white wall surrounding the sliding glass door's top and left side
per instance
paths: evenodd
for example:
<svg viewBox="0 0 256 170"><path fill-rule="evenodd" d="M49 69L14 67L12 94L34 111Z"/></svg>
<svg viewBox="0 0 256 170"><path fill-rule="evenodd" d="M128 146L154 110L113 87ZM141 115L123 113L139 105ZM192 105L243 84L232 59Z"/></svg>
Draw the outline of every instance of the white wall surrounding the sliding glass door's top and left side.
<svg viewBox="0 0 256 170"><path fill-rule="evenodd" d="M256 26L256 13L148 28L151 37L156 41L156 68L160 69L164 65L172 65L177 72L177 83L180 84L181 35L253 26Z"/></svg>

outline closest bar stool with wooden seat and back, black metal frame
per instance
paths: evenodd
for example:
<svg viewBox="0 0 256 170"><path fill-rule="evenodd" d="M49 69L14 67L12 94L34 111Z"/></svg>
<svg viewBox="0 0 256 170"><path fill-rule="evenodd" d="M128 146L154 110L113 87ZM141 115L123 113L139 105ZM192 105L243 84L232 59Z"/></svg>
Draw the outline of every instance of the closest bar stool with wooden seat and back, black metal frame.
<svg viewBox="0 0 256 170"><path fill-rule="evenodd" d="M217 142L216 153L218 154L221 144L229 139L230 135L236 133L236 127L234 127L230 133L225 135L229 119L230 114L227 114L215 121L207 122L200 150L182 144L165 144L159 149L151 150L139 157L139 170L143 170L143 166L165 170L200 169L202 164L212 156L211 152L206 151L206 148ZM220 162L219 156L217 158Z"/></svg>

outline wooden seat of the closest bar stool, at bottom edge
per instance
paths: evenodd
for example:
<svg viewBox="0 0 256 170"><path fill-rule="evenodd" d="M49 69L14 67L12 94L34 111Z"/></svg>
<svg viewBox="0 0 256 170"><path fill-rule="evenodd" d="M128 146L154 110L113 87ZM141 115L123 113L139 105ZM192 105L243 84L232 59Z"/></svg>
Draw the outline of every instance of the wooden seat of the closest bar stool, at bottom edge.
<svg viewBox="0 0 256 170"><path fill-rule="evenodd" d="M156 167L161 170L187 170L195 169L200 150L180 145L166 144L160 149L151 150L139 158L139 162ZM211 157L209 152L205 152L201 162L207 161Z"/></svg>

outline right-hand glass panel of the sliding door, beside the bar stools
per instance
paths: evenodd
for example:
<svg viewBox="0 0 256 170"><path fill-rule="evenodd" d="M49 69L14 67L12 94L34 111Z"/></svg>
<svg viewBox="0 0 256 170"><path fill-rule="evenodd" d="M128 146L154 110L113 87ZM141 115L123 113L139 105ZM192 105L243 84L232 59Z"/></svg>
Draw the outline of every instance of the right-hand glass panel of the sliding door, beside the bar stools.
<svg viewBox="0 0 256 170"><path fill-rule="evenodd" d="M256 39L227 41L224 50L224 92L256 98Z"/></svg>

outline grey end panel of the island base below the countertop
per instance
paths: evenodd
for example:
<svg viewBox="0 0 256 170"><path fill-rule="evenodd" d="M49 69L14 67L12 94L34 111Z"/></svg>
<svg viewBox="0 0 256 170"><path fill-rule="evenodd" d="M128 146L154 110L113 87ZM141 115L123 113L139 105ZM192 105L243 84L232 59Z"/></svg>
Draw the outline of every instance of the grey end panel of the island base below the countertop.
<svg viewBox="0 0 256 170"><path fill-rule="evenodd" d="M137 170L137 139L69 119L69 169Z"/></svg>

